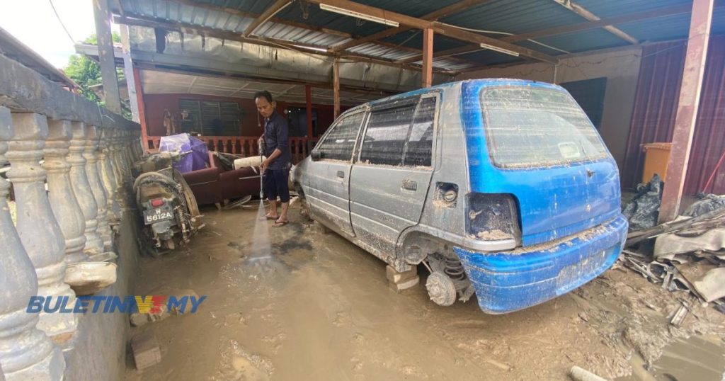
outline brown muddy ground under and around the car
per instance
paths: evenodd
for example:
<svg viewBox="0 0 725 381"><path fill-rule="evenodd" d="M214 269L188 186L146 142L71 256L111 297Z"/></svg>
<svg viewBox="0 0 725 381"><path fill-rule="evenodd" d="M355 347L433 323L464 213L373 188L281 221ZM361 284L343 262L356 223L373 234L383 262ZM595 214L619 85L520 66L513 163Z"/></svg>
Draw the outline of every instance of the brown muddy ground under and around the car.
<svg viewBox="0 0 725 381"><path fill-rule="evenodd" d="M492 316L475 299L436 306L423 285L394 292L383 262L299 210L281 228L257 222L256 208L202 212L207 226L189 247L143 258L136 292L207 300L133 329L154 332L162 362L138 372L128 356L125 380L568 380L573 365L616 380L724 380L725 316L693 303L673 327L688 295L618 266Z"/></svg>

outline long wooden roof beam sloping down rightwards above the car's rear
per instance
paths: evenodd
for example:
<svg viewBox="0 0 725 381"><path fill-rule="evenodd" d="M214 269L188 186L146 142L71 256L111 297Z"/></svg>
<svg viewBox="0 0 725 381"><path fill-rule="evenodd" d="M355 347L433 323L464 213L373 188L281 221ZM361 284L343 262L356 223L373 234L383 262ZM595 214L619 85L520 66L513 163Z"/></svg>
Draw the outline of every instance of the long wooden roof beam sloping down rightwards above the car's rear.
<svg viewBox="0 0 725 381"><path fill-rule="evenodd" d="M329 4L334 7L349 9L354 12L360 12L365 15L381 17L386 20L393 20L393 21L398 22L401 25L404 25L404 26L407 26L410 28L416 28L416 29L432 28L435 33L440 33L444 36L448 36L450 38L455 38L460 41L473 42L476 44L486 44L489 46L494 46L499 49L504 49L509 52L514 52L515 54L520 54L525 57L531 57L536 60L540 60L540 61L544 61L544 62L550 62L550 63L557 62L557 59L555 57L550 56L549 54L537 52L534 49L529 49L529 48L525 48L523 46L510 44L505 41L500 41L500 40L497 40L496 38L481 36L480 34L469 32L468 30L463 30L460 28L455 28L450 25L445 25L445 24L442 24L441 22L431 22L428 20L419 19L417 17L401 15L396 12L389 12L384 9L370 7L368 5L356 3L354 1L349 1L349 0L310 0L310 2L315 3L315 4L320 4L320 3L324 2L324 4Z"/></svg>

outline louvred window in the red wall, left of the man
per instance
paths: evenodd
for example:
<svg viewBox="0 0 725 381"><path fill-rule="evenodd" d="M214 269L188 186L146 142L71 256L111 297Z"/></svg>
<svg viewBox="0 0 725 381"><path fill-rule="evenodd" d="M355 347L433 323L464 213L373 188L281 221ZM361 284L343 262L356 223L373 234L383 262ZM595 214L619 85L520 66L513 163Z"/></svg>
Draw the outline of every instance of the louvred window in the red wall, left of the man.
<svg viewBox="0 0 725 381"><path fill-rule="evenodd" d="M179 110L188 116L180 120L181 131L196 131L210 136L239 136L243 116L236 102L179 99Z"/></svg>

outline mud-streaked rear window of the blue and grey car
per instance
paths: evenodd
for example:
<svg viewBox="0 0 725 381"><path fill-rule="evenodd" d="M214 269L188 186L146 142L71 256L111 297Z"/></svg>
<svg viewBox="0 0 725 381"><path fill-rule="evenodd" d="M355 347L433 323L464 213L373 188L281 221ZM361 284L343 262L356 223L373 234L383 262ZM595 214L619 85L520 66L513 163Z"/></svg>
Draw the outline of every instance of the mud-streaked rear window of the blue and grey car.
<svg viewBox="0 0 725 381"><path fill-rule="evenodd" d="M537 167L608 155L581 107L563 91L501 86L481 92L484 126L494 165Z"/></svg>

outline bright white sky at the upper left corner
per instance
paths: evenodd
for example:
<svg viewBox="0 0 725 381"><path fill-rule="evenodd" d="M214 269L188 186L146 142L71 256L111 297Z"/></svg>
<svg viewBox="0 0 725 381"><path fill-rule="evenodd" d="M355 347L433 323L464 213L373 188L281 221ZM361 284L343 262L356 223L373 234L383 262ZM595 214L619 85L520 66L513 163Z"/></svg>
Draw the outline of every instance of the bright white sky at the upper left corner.
<svg viewBox="0 0 725 381"><path fill-rule="evenodd" d="M51 0L0 0L0 28L30 46L55 67L75 54L73 42L51 8ZM52 0L73 41L96 33L92 0ZM114 30L118 30L115 26Z"/></svg>

